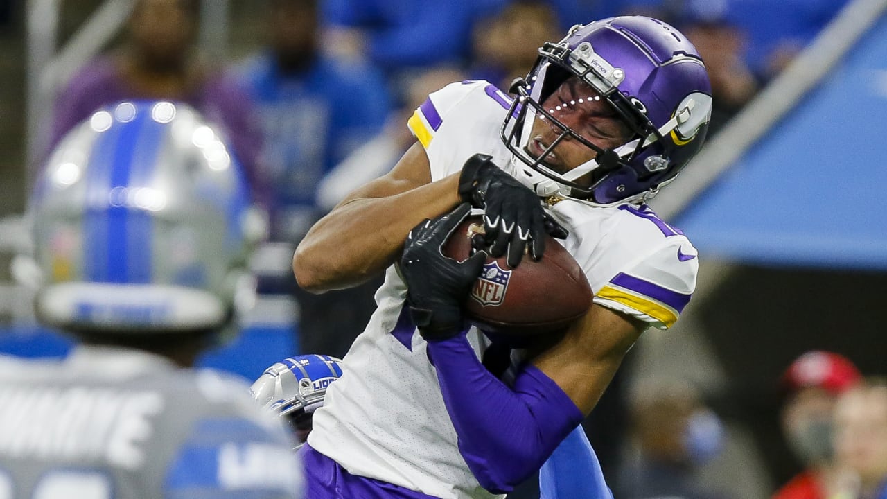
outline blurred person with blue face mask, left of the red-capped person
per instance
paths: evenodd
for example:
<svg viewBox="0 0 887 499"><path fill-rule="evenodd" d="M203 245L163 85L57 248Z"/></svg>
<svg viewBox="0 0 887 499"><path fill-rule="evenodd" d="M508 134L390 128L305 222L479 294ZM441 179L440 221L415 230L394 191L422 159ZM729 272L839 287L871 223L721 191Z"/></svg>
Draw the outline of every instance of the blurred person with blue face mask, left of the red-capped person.
<svg viewBox="0 0 887 499"><path fill-rule="evenodd" d="M726 497L695 478L698 467L718 455L724 438L720 419L695 388L677 381L640 382L632 396L631 432L636 455L616 478L616 497Z"/></svg>

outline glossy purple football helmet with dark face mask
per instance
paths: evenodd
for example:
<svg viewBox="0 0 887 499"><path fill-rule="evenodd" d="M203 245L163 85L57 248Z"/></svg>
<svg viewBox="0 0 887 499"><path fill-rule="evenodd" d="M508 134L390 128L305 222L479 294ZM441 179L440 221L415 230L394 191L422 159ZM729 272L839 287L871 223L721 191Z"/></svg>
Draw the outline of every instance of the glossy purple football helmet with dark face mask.
<svg viewBox="0 0 887 499"><path fill-rule="evenodd" d="M602 100L612 108L612 115L627 125L627 141L597 146L562 123L554 108L543 107L571 78L591 92L589 102ZM574 26L561 42L539 49L527 79L516 81L511 91L518 99L506 116L502 139L520 160L514 162L518 178L541 196L596 204L655 195L702 147L711 115L709 77L693 44L677 29L643 16ZM558 135L534 148L530 135L537 119ZM567 171L554 168L549 160L568 140L593 150L593 159Z"/></svg>

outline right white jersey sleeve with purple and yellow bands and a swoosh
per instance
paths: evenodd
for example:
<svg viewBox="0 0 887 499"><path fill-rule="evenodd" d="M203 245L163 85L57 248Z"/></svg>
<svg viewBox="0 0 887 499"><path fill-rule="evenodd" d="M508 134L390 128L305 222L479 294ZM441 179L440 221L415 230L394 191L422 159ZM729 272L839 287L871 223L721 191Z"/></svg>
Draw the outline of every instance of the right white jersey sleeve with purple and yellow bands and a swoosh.
<svg viewBox="0 0 887 499"><path fill-rule="evenodd" d="M594 301L647 321L659 329L670 328L693 296L699 270L698 252L678 228L658 218L647 206L622 205L624 230L617 238L631 242L631 259L617 268L595 293Z"/></svg>

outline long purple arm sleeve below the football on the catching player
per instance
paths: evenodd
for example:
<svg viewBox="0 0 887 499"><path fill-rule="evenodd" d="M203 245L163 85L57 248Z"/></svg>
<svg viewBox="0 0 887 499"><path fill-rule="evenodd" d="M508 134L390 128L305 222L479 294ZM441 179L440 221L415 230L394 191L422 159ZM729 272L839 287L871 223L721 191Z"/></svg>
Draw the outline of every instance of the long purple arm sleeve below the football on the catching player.
<svg viewBox="0 0 887 499"><path fill-rule="evenodd" d="M561 387L526 364L514 387L477 360L465 335L428 342L459 453L483 488L510 492L538 471L554 448L582 423L582 411Z"/></svg>

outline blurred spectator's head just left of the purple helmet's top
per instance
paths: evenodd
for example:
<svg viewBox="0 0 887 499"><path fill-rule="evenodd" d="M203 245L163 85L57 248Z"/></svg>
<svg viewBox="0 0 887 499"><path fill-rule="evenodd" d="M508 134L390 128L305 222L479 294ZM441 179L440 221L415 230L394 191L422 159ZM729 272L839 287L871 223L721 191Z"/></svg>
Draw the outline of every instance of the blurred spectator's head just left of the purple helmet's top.
<svg viewBox="0 0 887 499"><path fill-rule="evenodd" d="M475 25L471 76L508 91L514 78L527 75L527 68L538 58L538 48L557 41L560 35L556 13L549 4L514 2Z"/></svg>

